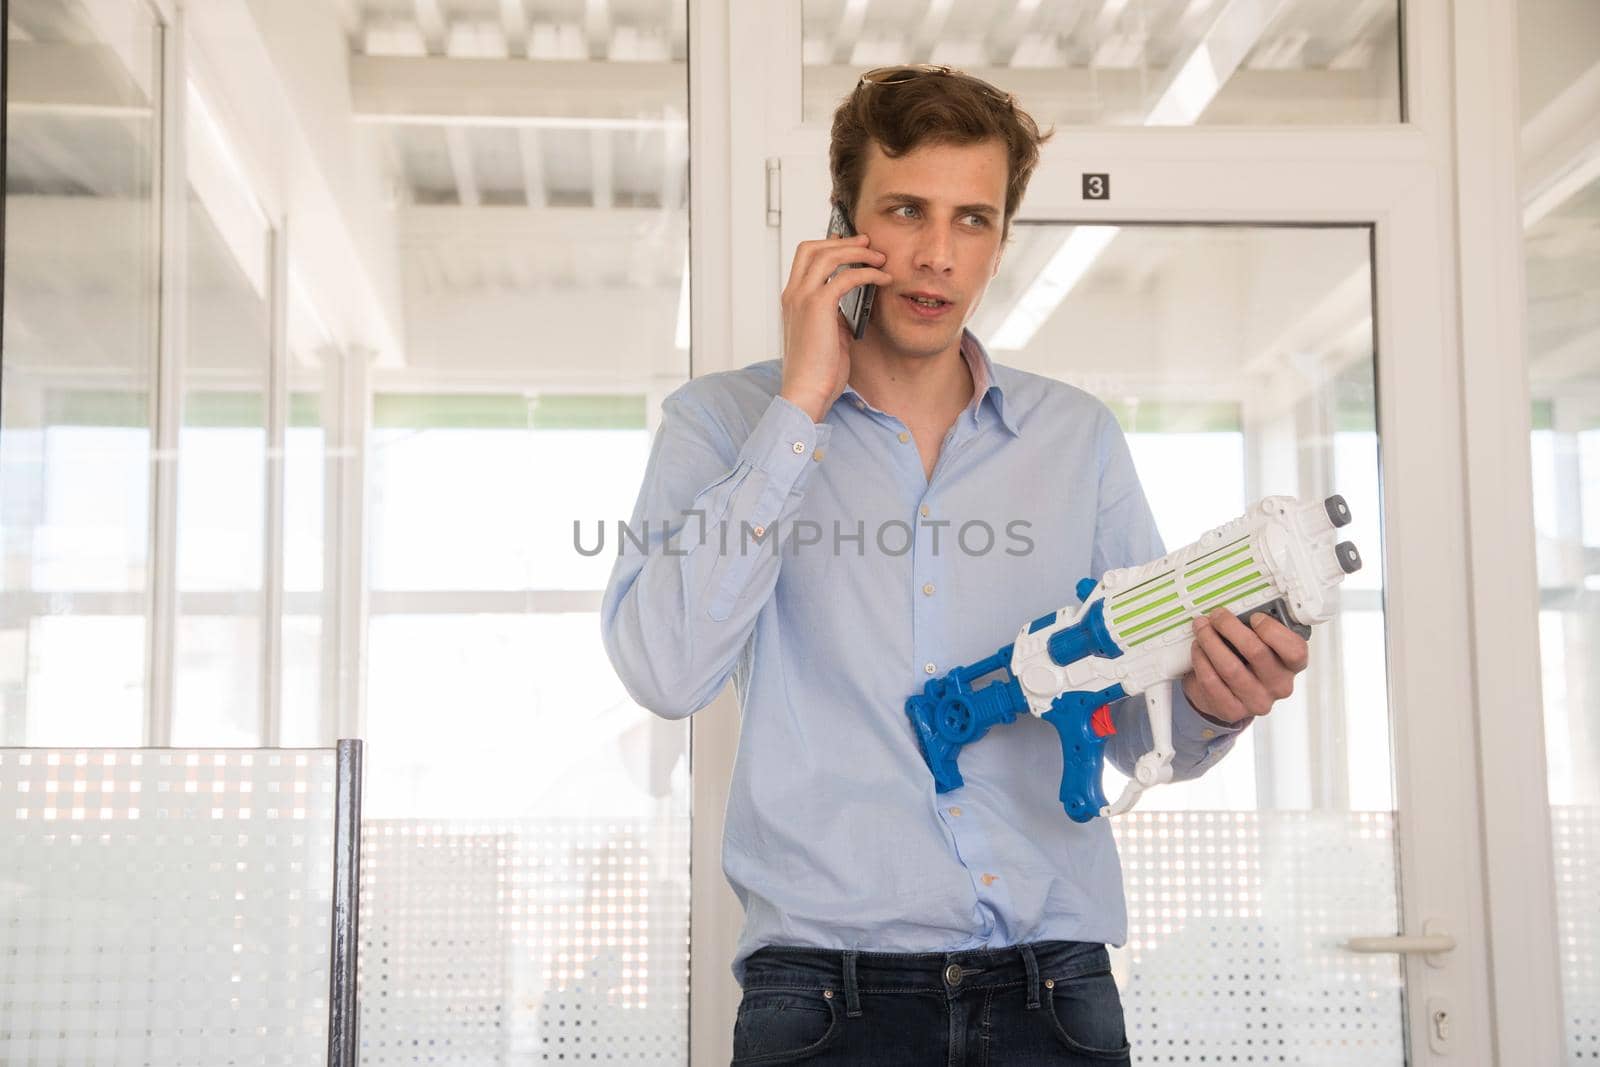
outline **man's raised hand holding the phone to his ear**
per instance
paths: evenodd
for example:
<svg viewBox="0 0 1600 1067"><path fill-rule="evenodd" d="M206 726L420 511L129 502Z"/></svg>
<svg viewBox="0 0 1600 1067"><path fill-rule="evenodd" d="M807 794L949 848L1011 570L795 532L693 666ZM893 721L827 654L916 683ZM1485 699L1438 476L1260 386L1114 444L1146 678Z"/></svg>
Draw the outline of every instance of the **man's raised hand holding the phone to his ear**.
<svg viewBox="0 0 1600 1067"><path fill-rule="evenodd" d="M827 418L850 381L851 334L838 301L858 285L891 283L894 278L878 269L885 259L867 246L864 234L800 242L795 250L782 294L784 378L779 392L813 422ZM848 262L867 266L838 270Z"/></svg>

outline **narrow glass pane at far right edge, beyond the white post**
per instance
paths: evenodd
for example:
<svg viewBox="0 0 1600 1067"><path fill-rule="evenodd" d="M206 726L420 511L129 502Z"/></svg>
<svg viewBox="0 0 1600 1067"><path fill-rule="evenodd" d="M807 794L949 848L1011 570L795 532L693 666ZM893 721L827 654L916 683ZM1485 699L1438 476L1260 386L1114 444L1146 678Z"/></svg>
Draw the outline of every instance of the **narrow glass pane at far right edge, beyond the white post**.
<svg viewBox="0 0 1600 1067"><path fill-rule="evenodd" d="M1570 1062L1600 1059L1600 8L1518 6L1533 525Z"/></svg>

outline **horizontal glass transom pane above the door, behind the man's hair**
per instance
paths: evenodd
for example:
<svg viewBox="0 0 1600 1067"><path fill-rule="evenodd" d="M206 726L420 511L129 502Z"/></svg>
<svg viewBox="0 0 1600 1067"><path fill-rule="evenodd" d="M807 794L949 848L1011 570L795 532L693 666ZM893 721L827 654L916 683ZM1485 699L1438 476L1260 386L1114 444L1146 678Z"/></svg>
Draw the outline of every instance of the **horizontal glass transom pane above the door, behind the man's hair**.
<svg viewBox="0 0 1600 1067"><path fill-rule="evenodd" d="M861 70L904 62L1005 85L1040 123L1402 118L1398 0L803 0L803 10L806 122L827 122Z"/></svg>

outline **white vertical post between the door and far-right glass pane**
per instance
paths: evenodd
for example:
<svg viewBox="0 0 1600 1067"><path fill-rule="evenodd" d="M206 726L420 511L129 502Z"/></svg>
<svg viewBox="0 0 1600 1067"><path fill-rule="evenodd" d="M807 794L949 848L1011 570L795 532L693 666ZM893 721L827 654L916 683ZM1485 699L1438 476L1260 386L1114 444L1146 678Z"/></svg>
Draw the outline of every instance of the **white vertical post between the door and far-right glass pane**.
<svg viewBox="0 0 1600 1067"><path fill-rule="evenodd" d="M1453 30L1458 293L1446 328L1462 378L1494 1048L1507 1065L1560 1064L1568 1013L1541 699L1517 5L1454 5Z"/></svg>

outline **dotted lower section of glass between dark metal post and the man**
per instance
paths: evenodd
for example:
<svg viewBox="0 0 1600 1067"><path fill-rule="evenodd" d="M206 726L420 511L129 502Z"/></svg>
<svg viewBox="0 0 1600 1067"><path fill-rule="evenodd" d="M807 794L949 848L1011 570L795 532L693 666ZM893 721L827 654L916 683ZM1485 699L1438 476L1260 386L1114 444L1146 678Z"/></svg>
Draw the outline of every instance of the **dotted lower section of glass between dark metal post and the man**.
<svg viewBox="0 0 1600 1067"><path fill-rule="evenodd" d="M362 835L365 1067L688 1062L685 819Z"/></svg>

